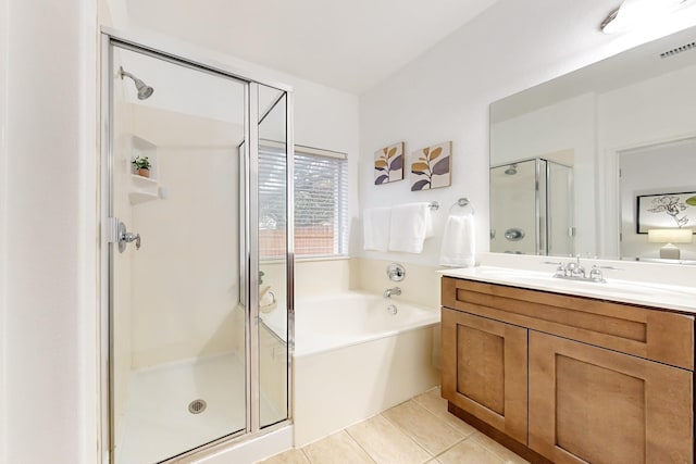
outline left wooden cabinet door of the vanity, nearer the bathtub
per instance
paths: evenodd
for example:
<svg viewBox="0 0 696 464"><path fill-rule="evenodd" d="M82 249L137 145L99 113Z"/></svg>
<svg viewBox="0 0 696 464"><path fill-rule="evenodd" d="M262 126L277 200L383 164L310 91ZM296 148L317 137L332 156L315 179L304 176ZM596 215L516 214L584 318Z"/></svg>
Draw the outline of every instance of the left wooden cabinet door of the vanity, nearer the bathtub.
<svg viewBox="0 0 696 464"><path fill-rule="evenodd" d="M443 308L443 397L524 444L526 333Z"/></svg>

